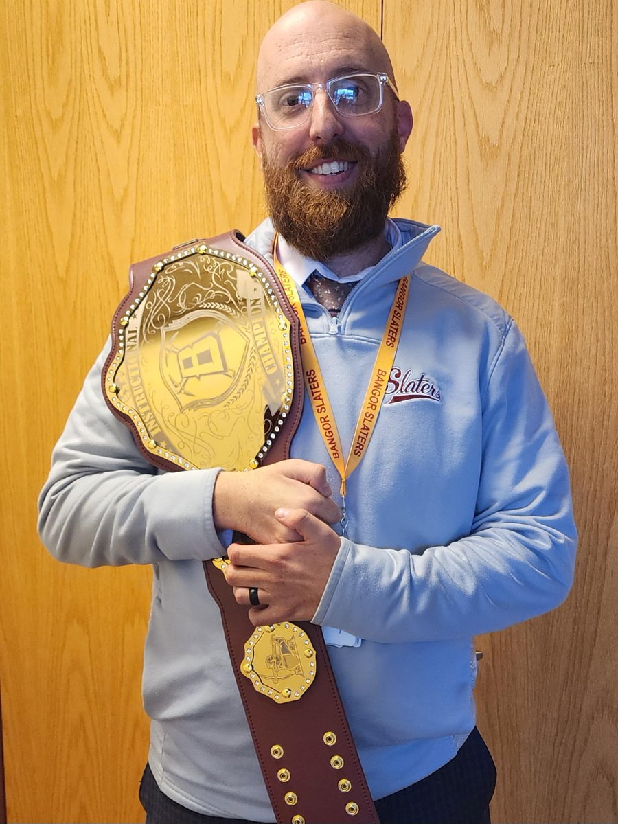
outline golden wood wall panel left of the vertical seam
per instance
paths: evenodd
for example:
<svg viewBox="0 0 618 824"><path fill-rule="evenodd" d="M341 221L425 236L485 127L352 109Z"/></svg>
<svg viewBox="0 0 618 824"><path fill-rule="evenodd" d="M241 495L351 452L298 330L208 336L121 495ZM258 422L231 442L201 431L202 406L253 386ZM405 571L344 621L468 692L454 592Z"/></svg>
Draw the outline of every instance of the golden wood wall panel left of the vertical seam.
<svg viewBox="0 0 618 824"><path fill-rule="evenodd" d="M264 216L257 46L293 0L4 0L0 678L8 820L136 822L149 569L56 564L49 454L129 262ZM379 0L342 5L379 29Z"/></svg>

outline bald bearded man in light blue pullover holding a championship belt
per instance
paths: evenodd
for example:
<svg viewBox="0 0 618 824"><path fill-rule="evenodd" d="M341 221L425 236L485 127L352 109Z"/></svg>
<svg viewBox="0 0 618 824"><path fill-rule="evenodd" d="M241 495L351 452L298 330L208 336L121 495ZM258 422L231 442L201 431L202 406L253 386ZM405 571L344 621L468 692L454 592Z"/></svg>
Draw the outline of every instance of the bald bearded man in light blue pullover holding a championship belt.
<svg viewBox="0 0 618 824"><path fill-rule="evenodd" d="M253 625L327 628L381 821L488 822L473 638L569 591L575 530L554 424L513 320L421 262L437 227L387 219L412 115L375 32L330 3L294 7L265 37L257 90L271 219L246 243L296 284L343 462L309 386L289 461L156 472L102 400L104 353L54 451L41 536L71 563L154 564L147 822L274 821L204 587L201 561L226 551ZM383 395L348 460L387 350ZM228 545L230 530L255 545Z"/></svg>

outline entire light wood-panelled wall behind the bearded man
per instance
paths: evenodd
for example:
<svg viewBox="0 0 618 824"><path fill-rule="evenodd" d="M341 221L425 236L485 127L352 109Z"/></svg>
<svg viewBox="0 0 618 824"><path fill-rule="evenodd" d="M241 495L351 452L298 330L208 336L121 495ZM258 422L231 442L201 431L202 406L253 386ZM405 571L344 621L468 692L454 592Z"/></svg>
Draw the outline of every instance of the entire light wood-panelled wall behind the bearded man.
<svg viewBox="0 0 618 824"><path fill-rule="evenodd" d="M253 63L293 0L2 0L0 678L9 822L138 822L148 569L57 564L35 500L129 262L263 216ZM516 316L572 470L559 611L479 639L494 822L618 822L612 0L348 0L412 102L396 212Z"/></svg>

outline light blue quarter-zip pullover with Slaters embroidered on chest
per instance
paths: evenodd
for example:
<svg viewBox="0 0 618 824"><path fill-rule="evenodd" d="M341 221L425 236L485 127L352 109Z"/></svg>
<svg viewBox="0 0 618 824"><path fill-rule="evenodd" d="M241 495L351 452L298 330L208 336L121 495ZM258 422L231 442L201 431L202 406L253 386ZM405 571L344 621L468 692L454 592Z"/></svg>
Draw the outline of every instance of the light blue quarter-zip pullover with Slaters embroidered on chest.
<svg viewBox="0 0 618 824"><path fill-rule="evenodd" d="M494 300L422 263L438 227L396 223L403 246L353 289L338 324L302 293L346 452L410 274L378 424L349 479L349 537L313 618L363 639L330 658L374 798L455 755L475 724L475 634L558 606L576 545L564 455L520 331ZM266 221L246 242L271 257L273 236ZM157 783L196 812L272 822L200 563L224 552L218 470L145 461L101 395L105 354L55 447L40 535L68 563L154 564L143 700ZM307 402L292 456L323 463L339 489Z"/></svg>

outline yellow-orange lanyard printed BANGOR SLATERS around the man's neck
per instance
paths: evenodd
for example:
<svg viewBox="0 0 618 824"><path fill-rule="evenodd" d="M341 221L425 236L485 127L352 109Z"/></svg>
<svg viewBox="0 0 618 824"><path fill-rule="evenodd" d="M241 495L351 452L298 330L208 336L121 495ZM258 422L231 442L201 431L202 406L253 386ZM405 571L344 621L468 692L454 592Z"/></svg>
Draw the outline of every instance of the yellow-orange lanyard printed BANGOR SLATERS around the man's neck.
<svg viewBox="0 0 618 824"><path fill-rule="evenodd" d="M339 493L343 499L344 513L341 518L341 523L344 527L345 534L346 481L363 459L373 430L376 427L377 416L380 414L380 409L382 408L382 400L384 399L386 384L388 383L388 377L391 374L391 368L395 360L401 326L403 325L405 316L405 304L408 301L409 278L405 276L400 279L399 285L397 286L395 299L392 302L391 311L389 312L384 334L382 335L382 343L380 344L380 349L377 351L376 362L373 364L372 375L367 391L365 392L360 415L358 416L358 423L356 424L356 431L354 432L348 460L344 461L341 440L339 438L339 432L337 431L337 424L335 423L335 415L330 405L320 364L317 360L316 349L309 335L307 320L302 310L300 297L298 297L296 283L294 283L288 272L283 269L283 266L279 263L276 238L274 242L274 269L288 296L289 302L292 304L294 314L297 316L298 321L300 321L299 338L305 386L307 386L307 392L311 399L311 407L316 417L317 428L320 430L325 447L341 478Z"/></svg>

